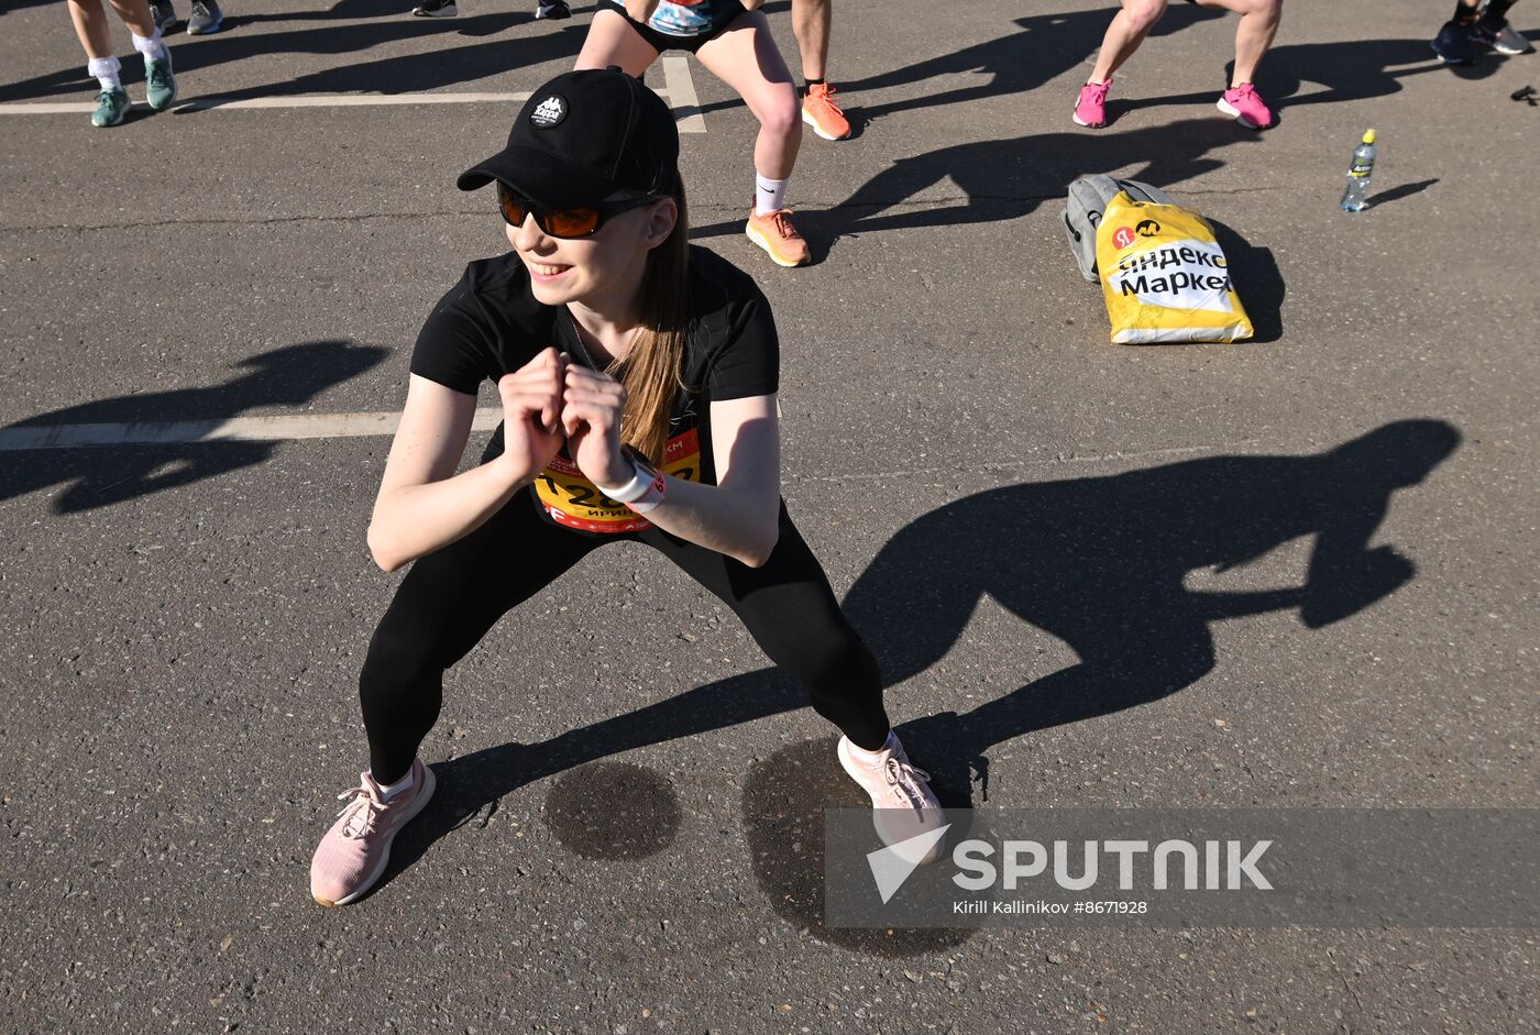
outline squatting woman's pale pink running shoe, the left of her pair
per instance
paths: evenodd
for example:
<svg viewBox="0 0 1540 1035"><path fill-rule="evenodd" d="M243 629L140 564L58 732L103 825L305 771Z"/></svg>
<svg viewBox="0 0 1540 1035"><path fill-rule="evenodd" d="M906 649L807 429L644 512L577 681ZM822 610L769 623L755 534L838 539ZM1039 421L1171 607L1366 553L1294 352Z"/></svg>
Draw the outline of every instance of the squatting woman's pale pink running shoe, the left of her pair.
<svg viewBox="0 0 1540 1035"><path fill-rule="evenodd" d="M390 862L390 842L433 798L433 770L420 758L411 762L413 784L390 801L368 773L337 799L353 798L310 861L310 895L322 906L346 906L380 879Z"/></svg>

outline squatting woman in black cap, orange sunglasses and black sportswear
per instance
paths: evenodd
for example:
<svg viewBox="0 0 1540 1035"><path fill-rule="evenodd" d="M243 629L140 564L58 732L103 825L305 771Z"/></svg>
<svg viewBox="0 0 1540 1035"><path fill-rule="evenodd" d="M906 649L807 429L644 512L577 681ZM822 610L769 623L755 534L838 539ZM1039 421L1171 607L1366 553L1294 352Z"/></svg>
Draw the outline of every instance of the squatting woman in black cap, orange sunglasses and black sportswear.
<svg viewBox="0 0 1540 1035"><path fill-rule="evenodd" d="M619 69L579 71L537 89L508 145L459 177L496 185L513 251L470 263L413 351L368 542L387 571L416 564L359 679L370 772L316 849L323 906L379 879L433 795L417 747L444 670L618 541L678 564L807 684L886 841L939 826L876 662L779 497L770 306L753 279L687 243L678 154L656 94ZM497 385L504 424L456 474L482 380Z"/></svg>

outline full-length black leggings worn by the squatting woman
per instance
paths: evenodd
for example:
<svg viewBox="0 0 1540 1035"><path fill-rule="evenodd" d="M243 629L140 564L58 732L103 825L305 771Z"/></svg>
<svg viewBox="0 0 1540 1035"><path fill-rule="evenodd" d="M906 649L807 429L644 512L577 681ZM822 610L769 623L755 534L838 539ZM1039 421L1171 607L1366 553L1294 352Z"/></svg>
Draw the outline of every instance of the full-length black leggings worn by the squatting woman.
<svg viewBox="0 0 1540 1035"><path fill-rule="evenodd" d="M758 568L658 527L610 539L645 542L684 568L733 608L770 661L808 687L819 715L858 747L882 745L889 721L876 659L845 621L784 502L781 538ZM359 676L377 781L394 782L411 769L439 718L444 670L507 611L607 541L551 525L521 490L480 528L413 565Z"/></svg>

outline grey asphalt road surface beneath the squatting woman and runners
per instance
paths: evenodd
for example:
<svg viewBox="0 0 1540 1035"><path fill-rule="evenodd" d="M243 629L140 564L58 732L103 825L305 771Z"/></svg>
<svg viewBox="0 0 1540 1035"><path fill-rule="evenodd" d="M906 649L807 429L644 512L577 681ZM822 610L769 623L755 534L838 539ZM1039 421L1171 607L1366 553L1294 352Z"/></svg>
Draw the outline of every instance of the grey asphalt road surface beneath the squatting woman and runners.
<svg viewBox="0 0 1540 1035"><path fill-rule="evenodd" d="M407 3L231 0L169 37L202 103L114 129L62 5L0 17L0 1030L1534 1030L1532 929L822 926L818 816L861 801L832 729L628 547L451 672L439 798L316 906L400 578L368 414L499 250L454 174L591 15ZM1437 65L1448 3L1291 3L1257 134L1214 109L1234 18L1173 5L1089 131L1107 3L835 14L859 132L805 137L812 268L742 237L748 112L648 82L698 116L698 240L775 305L788 505L946 795L1534 807L1540 57ZM422 97L468 92L500 97ZM1060 228L1100 171L1226 228L1255 342L1107 343ZM1358 561L1315 578L1329 536Z"/></svg>

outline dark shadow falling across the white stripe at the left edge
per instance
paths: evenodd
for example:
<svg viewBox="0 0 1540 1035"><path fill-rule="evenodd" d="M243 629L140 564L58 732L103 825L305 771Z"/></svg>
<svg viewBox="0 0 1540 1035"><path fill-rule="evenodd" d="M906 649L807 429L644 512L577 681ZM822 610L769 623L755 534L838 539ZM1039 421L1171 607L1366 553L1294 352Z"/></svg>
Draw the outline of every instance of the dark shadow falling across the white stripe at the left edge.
<svg viewBox="0 0 1540 1035"><path fill-rule="evenodd" d="M3 430L79 424L206 420L209 428L259 407L299 407L326 388L362 374L390 354L339 340L286 345L242 360L248 373L213 388L151 391L54 410ZM129 499L262 464L277 442L168 442L0 453L0 501L63 485L55 514L109 507Z"/></svg>

